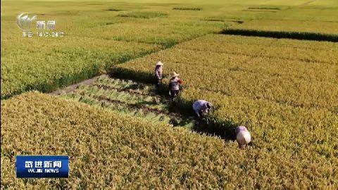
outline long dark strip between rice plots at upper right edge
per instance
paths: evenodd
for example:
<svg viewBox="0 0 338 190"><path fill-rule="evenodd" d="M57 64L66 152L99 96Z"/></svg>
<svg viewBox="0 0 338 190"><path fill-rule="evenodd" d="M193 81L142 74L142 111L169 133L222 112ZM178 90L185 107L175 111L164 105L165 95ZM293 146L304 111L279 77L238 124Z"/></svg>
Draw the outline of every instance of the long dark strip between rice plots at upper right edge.
<svg viewBox="0 0 338 190"><path fill-rule="evenodd" d="M320 34L313 32L287 32L287 31L264 31L264 30L244 30L244 29L225 29L221 34L232 34L249 37L273 37L287 39L303 39L313 41L338 42L336 34Z"/></svg>

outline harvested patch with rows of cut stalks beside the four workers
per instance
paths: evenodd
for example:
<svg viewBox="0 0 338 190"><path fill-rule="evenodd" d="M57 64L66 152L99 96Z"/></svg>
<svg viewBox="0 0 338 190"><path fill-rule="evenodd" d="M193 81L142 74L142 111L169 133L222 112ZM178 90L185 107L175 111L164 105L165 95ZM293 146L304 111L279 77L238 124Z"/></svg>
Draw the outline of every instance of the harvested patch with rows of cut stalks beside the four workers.
<svg viewBox="0 0 338 190"><path fill-rule="evenodd" d="M61 92L61 93L60 93ZM72 91L58 91L62 99L80 101L92 106L117 110L151 122L193 129L194 120L187 115L173 113L170 101L156 95L156 89L131 80L111 79L106 75L82 84Z"/></svg>

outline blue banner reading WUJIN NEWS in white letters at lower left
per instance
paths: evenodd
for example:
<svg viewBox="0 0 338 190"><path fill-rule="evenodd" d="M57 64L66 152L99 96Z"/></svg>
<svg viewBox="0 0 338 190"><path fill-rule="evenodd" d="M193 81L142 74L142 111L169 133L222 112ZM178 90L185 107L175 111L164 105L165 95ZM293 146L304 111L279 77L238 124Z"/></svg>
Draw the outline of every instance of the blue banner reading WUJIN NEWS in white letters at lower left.
<svg viewBox="0 0 338 190"><path fill-rule="evenodd" d="M68 156L16 156L17 178L65 178Z"/></svg>

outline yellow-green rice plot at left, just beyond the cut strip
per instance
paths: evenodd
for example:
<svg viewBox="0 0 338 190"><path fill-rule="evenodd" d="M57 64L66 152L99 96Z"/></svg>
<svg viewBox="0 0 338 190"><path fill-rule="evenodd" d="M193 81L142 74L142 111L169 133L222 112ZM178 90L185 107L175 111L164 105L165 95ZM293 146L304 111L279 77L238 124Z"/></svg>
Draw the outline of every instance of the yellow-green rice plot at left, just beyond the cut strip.
<svg viewBox="0 0 338 190"><path fill-rule="evenodd" d="M27 39L25 43L30 44L23 43L20 51L11 51L18 47L20 40L6 44L8 49L1 55L2 99L31 89L51 91L73 84L99 75L106 65L121 63L161 48L137 42L104 39L93 42L91 38L68 37L51 40L49 46L41 45L44 40ZM93 46L96 48L93 49Z"/></svg>

